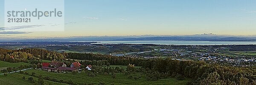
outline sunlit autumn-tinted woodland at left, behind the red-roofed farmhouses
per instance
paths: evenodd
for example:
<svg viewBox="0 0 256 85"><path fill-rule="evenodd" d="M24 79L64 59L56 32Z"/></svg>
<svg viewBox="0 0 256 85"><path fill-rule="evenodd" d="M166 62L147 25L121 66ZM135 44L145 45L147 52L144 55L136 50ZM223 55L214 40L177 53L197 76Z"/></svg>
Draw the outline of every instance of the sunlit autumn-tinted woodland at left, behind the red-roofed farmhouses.
<svg viewBox="0 0 256 85"><path fill-rule="evenodd" d="M0 48L0 60L6 62L32 62L37 64L41 59L46 60L63 60L66 53L58 53L55 51L47 51L38 48L25 49L3 49Z"/></svg>

